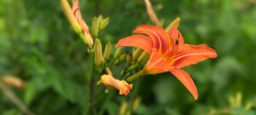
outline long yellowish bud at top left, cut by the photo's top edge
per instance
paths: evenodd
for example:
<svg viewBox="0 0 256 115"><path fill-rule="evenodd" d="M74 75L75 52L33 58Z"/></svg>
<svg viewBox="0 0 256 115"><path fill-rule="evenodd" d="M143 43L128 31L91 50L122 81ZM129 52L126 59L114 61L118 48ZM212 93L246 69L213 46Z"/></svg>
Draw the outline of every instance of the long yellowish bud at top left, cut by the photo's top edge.
<svg viewBox="0 0 256 115"><path fill-rule="evenodd" d="M67 17L67 20L69 21L69 23L73 27L73 30L77 33L81 33L82 28L79 26L79 22L76 20L74 14L72 12L72 9L71 9L69 3L67 2L67 0L61 0L61 8L63 9L63 12Z"/></svg>

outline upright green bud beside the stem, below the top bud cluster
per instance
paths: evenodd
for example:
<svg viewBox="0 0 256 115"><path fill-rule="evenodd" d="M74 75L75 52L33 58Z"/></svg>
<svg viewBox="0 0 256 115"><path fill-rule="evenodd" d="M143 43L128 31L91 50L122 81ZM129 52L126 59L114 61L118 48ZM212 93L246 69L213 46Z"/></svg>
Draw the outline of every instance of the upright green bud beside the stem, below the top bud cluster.
<svg viewBox="0 0 256 115"><path fill-rule="evenodd" d="M102 43L101 41L96 38L95 46L94 46L94 55L95 55L95 64L96 66L100 66L104 63L102 58Z"/></svg>

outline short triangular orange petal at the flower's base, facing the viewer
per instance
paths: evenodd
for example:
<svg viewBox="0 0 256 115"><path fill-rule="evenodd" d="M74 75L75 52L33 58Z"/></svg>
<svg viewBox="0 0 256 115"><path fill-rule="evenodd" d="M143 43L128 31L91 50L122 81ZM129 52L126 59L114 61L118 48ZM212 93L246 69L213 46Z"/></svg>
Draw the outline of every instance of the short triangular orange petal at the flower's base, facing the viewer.
<svg viewBox="0 0 256 115"><path fill-rule="evenodd" d="M168 72L172 67L168 65L163 58L158 55L156 49L153 49L152 55L150 56L147 65L144 70L148 74L156 74L161 72Z"/></svg>

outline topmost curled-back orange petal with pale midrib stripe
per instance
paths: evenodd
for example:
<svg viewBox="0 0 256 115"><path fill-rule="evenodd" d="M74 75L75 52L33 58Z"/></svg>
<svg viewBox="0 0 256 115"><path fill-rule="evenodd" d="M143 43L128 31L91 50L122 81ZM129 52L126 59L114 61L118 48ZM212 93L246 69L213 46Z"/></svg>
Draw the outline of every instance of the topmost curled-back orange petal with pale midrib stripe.
<svg viewBox="0 0 256 115"><path fill-rule="evenodd" d="M168 34L159 26L137 26L133 32L148 35L153 41L154 48L158 49L162 54L166 52L170 46L171 40Z"/></svg>

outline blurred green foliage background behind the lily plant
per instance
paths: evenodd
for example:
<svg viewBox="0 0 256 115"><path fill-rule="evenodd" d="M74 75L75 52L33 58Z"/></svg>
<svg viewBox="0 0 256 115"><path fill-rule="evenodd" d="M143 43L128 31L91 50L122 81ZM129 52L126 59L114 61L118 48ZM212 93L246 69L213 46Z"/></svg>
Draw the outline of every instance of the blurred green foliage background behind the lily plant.
<svg viewBox="0 0 256 115"><path fill-rule="evenodd" d="M89 26L98 14L110 17L100 37L103 44L131 35L138 25L153 24L142 0L80 1ZM177 78L163 73L138 79L129 96L113 89L106 94L105 87L96 86L96 113L256 114L256 1L152 0L152 4L164 26L181 17L179 29L186 43L207 43L218 52L217 59L184 68L195 80L198 101ZM9 89L35 114L89 114L91 61L59 0L0 1L0 77L11 75L26 83L23 89ZM22 114L3 89L0 114Z"/></svg>

